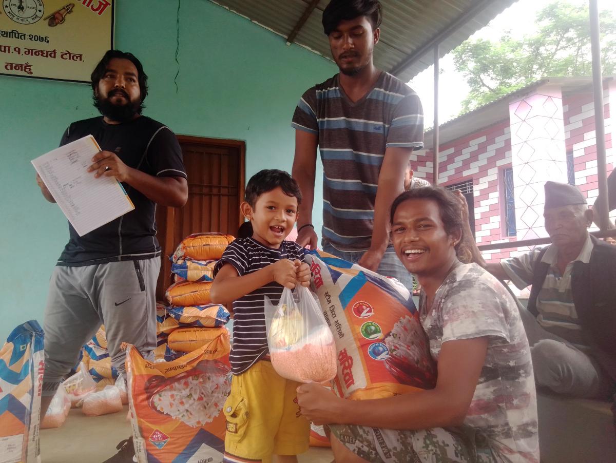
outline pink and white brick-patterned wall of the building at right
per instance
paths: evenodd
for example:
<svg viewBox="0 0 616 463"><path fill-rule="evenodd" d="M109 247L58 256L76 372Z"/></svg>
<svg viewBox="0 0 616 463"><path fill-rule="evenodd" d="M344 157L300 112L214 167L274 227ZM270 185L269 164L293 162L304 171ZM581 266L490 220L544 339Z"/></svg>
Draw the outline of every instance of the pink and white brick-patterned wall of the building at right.
<svg viewBox="0 0 616 463"><path fill-rule="evenodd" d="M604 89L604 115L606 117L607 172L614 167L612 150L612 124L610 101L616 105L616 83L610 81ZM573 152L575 183L588 198L589 206L598 195L596 142L594 135L594 106L592 92L565 95L562 99L565 149ZM616 107L616 106L615 106ZM472 127L472 116L466 123ZM563 159L565 153L563 153ZM432 182L432 153L417 151L411 157L415 175ZM442 186L472 180L475 207L477 244L517 241L506 236L505 179L503 171L512 166L510 121L503 119L490 127L471 132L460 139L440 146L439 183ZM515 172L514 172L515 174ZM517 206L517 204L516 204ZM616 218L616 211L610 217ZM596 230L592 228L591 230ZM499 262L529 248L513 247L484 252L488 262Z"/></svg>

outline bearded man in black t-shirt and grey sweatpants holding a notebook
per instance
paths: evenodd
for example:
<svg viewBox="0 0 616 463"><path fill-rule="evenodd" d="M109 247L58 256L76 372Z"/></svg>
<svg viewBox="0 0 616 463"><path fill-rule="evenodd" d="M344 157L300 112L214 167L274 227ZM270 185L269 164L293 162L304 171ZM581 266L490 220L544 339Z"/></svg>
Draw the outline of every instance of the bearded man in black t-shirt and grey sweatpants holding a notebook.
<svg viewBox="0 0 616 463"><path fill-rule="evenodd" d="M94 135L102 151L88 171L115 177L135 209L70 240L51 277L45 312L45 374L41 419L78 361L79 350L105 324L113 367L123 375L133 344L144 356L156 347L156 279L161 248L155 209L182 207L188 198L182 151L171 129L141 112L147 75L130 53L109 50L92 72L94 106L102 117L70 124L60 145ZM43 196L55 203L40 177ZM121 460L117 460L121 461ZM132 457L131 457L132 461Z"/></svg>

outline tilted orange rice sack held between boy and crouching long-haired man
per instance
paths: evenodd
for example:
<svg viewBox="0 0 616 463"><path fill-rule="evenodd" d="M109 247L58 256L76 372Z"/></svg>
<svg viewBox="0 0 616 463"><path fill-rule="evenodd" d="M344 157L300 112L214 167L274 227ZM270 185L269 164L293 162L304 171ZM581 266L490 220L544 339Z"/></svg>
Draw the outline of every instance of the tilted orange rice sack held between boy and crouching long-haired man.
<svg viewBox="0 0 616 463"><path fill-rule="evenodd" d="M306 262L336 342L337 395L362 400L434 387L436 366L407 288L326 253L311 251Z"/></svg>

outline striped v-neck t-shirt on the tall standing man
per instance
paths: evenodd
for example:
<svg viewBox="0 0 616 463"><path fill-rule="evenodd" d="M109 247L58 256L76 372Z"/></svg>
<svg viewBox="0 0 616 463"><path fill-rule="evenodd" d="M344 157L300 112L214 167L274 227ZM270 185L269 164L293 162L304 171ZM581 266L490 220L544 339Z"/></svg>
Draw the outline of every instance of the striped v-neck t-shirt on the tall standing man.
<svg viewBox="0 0 616 463"><path fill-rule="evenodd" d="M423 148L419 97L383 72L371 91L352 102L336 74L302 95L291 126L318 135L323 241L341 251L368 249L385 149Z"/></svg>

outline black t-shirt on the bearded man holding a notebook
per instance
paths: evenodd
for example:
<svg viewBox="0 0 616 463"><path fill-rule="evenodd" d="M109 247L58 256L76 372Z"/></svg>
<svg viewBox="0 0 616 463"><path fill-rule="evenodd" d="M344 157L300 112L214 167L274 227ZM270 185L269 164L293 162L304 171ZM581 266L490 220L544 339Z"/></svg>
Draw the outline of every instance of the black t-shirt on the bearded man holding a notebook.
<svg viewBox="0 0 616 463"><path fill-rule="evenodd" d="M123 124L107 124L102 116L68 126L60 146L94 135L101 150L111 151L124 164L154 177L186 177L182 150L169 127L145 116ZM94 175L94 172L92 172ZM102 227L79 236L70 223L70 240L57 265L80 266L160 256L156 240L156 204L122 183L135 209Z"/></svg>

